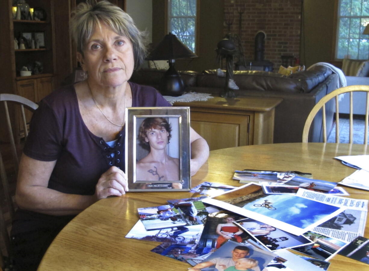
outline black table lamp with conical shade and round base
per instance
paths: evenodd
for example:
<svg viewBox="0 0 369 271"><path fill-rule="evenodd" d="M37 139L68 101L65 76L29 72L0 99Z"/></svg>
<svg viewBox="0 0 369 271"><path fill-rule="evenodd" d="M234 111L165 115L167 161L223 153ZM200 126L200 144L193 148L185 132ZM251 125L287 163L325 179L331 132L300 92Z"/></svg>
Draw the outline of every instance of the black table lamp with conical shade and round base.
<svg viewBox="0 0 369 271"><path fill-rule="evenodd" d="M176 59L197 57L176 35L169 32L146 60L168 60L169 69L165 72L159 91L162 95L180 96L184 93L183 81L174 67Z"/></svg>

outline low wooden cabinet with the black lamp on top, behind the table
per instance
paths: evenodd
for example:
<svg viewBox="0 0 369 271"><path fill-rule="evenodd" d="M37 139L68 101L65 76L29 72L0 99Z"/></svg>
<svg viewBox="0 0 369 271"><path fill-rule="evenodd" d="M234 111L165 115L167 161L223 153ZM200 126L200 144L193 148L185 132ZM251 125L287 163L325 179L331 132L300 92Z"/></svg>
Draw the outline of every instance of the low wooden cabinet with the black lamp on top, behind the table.
<svg viewBox="0 0 369 271"><path fill-rule="evenodd" d="M207 101L175 102L189 106L191 127L210 150L273 143L275 107L280 98L213 97Z"/></svg>

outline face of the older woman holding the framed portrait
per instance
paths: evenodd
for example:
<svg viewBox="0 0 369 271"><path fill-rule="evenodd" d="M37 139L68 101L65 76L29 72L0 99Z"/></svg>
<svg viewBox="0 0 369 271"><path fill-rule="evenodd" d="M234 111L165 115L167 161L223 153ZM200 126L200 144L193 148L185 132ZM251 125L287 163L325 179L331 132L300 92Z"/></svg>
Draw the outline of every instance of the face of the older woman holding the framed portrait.
<svg viewBox="0 0 369 271"><path fill-rule="evenodd" d="M95 28L83 54L84 57L78 53L78 59L88 72L91 84L116 87L131 78L134 68L132 43L106 24L101 23L101 29Z"/></svg>

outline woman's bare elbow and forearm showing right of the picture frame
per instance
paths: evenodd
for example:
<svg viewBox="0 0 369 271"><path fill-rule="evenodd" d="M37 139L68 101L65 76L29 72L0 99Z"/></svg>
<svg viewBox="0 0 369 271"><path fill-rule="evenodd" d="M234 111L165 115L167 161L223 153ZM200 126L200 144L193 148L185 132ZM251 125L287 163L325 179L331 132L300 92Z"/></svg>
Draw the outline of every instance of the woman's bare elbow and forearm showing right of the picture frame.
<svg viewBox="0 0 369 271"><path fill-rule="evenodd" d="M195 130L190 128L191 141L191 176L195 175L209 157L209 146Z"/></svg>

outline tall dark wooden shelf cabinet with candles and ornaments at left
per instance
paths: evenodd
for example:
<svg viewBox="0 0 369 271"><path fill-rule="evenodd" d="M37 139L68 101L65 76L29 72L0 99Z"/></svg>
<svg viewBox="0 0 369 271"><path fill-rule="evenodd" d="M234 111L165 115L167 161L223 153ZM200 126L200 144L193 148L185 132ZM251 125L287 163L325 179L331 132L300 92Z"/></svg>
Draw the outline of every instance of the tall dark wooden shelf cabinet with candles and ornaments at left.
<svg viewBox="0 0 369 271"><path fill-rule="evenodd" d="M26 97L32 102L39 102L52 92L54 88L55 68L55 32L54 32L54 0L26 0L26 3L37 10L41 20L31 18L13 18L12 6L17 1L5 0L0 8L0 66L1 84L0 93L12 93ZM34 13L35 15L35 13ZM34 44L32 39L36 42ZM14 40L24 43L24 48L16 49ZM32 46L32 43L35 46ZM37 46L38 44L38 46ZM18 43L18 46L20 44ZM34 47L34 48L32 48ZM21 68L25 66L32 70L30 76L21 76ZM20 122L19 112L10 108L10 118L14 123L14 135L19 139ZM27 110L26 110L27 111ZM27 114L27 113L26 113ZM30 114L30 113L28 113ZM30 116L27 116L30 120ZM0 121L4 121L0 114ZM7 136L4 129L0 129L0 141Z"/></svg>

